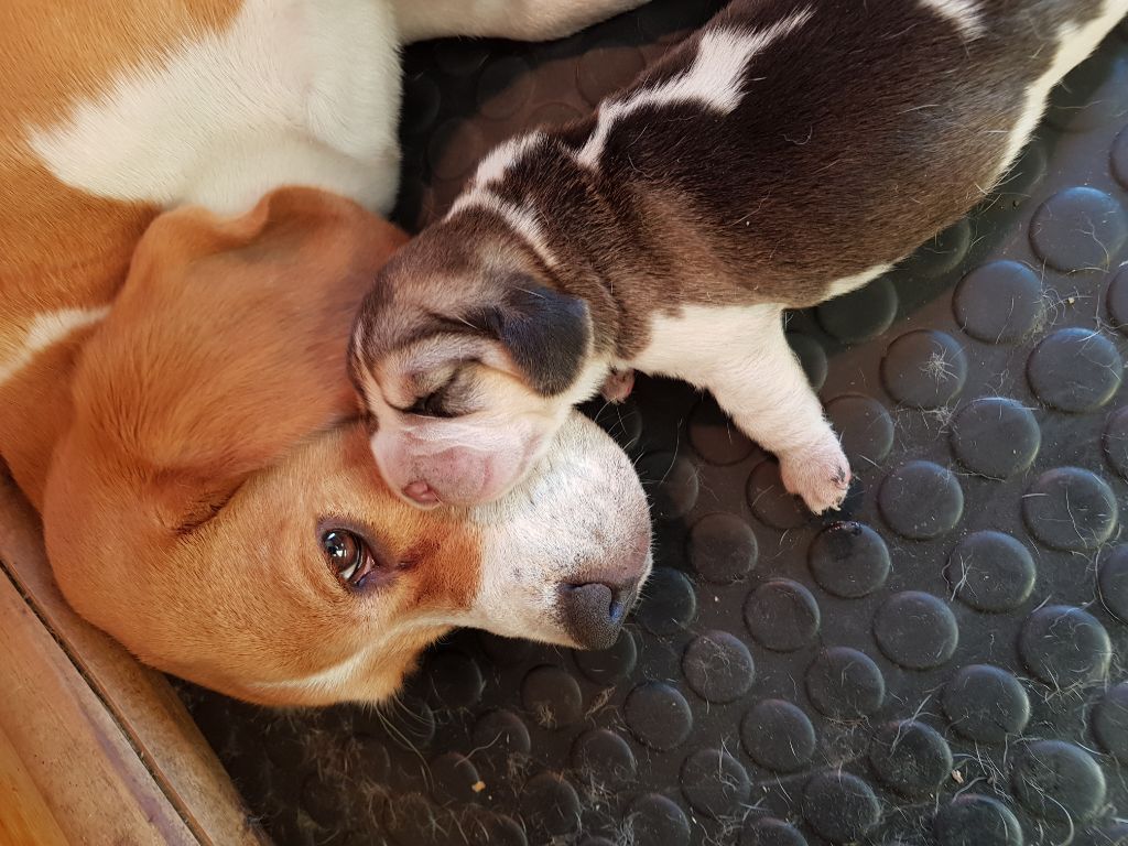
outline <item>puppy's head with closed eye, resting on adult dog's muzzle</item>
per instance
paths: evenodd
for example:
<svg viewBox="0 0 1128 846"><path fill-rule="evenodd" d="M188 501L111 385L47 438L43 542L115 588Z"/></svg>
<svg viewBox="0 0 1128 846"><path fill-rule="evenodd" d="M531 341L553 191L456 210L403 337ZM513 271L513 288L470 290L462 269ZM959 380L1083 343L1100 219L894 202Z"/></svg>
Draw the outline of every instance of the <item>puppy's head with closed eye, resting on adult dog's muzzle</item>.
<svg viewBox="0 0 1128 846"><path fill-rule="evenodd" d="M372 452L407 501L508 493L603 373L587 303L522 241L458 215L390 261L353 328L350 371Z"/></svg>

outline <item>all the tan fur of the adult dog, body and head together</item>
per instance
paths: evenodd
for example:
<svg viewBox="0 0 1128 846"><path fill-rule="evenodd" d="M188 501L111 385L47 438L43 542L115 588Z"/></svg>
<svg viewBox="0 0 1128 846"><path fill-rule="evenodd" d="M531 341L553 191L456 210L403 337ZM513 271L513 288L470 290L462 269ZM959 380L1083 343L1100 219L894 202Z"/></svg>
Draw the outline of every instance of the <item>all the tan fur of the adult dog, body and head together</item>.
<svg viewBox="0 0 1128 846"><path fill-rule="evenodd" d="M30 151L30 131L65 120L130 67L219 30L240 3L133 0L107 14L86 0L50 16L39 6L0 8L0 362L36 315L113 302L159 212L60 183ZM73 332L0 384L0 456L43 512L61 587L143 660L248 699L329 702L341 691L248 681L321 670L371 640L373 625L390 631L418 609L470 601L477 557L465 525L421 521L381 490L362 429L333 429L355 414L342 327L403 240L316 192L279 194L236 221L169 214L141 240L106 325ZM309 353L305 367L294 350ZM217 370L217 355L230 367ZM241 418L223 413L240 403ZM382 620L341 601L317 527L302 525L334 500L340 517L378 528L390 554L415 562ZM347 513L359 502L371 510ZM267 536L277 573L240 569ZM452 561L464 570L452 574ZM333 591L340 616L306 613ZM382 698L434 635L373 653L379 669L349 695Z"/></svg>

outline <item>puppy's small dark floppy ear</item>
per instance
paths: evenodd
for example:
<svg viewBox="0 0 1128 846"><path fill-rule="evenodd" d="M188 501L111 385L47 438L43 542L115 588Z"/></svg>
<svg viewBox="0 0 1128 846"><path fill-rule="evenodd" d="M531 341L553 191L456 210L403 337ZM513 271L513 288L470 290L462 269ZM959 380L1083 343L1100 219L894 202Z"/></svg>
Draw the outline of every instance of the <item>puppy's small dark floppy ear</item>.
<svg viewBox="0 0 1128 846"><path fill-rule="evenodd" d="M564 393L580 374L591 316L579 297L518 276L509 281L502 303L486 310L484 323L541 396Z"/></svg>

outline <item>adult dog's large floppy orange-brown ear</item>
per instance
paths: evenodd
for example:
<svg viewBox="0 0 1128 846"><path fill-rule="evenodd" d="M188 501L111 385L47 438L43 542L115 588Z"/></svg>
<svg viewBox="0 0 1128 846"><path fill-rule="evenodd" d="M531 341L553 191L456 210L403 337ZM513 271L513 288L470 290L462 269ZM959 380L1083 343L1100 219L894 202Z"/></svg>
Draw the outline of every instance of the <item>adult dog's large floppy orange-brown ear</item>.
<svg viewBox="0 0 1128 846"><path fill-rule="evenodd" d="M404 240L310 190L271 194L240 218L158 218L83 351L72 435L144 468L175 493L173 512L206 515L248 474L356 414L349 327Z"/></svg>

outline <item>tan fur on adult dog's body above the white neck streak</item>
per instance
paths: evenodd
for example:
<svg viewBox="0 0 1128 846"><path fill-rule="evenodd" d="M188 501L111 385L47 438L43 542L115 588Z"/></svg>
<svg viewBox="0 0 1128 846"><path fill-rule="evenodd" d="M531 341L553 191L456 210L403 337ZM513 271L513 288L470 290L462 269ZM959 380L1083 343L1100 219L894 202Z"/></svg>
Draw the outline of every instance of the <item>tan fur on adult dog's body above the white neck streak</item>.
<svg viewBox="0 0 1128 846"><path fill-rule="evenodd" d="M52 292L97 299L121 277L99 273L127 255L156 210L98 200L73 191L43 167L28 147L32 130L56 125L71 109L103 94L131 67L175 45L221 29L238 0L98 0L52 3L9 0L0 8L0 296L6 311L18 283L34 273L53 279ZM44 27L50 26L50 32ZM65 240L59 240L62 233ZM109 257L107 259L107 256ZM76 266L92 272L73 274ZM90 265L95 265L90 267ZM112 281L107 281L112 280ZM68 290L68 285L72 288ZM43 285L37 289L42 292ZM78 289L78 290L73 290ZM50 301L50 300L49 300ZM15 314L17 303L12 303Z"/></svg>

